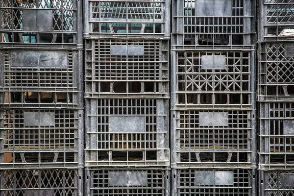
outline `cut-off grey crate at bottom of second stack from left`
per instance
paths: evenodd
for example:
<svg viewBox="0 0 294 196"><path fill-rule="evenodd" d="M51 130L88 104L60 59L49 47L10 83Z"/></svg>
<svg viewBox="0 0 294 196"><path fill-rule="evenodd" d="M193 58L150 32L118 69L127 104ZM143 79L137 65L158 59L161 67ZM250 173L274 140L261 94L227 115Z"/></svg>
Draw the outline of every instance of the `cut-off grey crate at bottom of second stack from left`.
<svg viewBox="0 0 294 196"><path fill-rule="evenodd" d="M85 170L85 196L170 196L170 170Z"/></svg>

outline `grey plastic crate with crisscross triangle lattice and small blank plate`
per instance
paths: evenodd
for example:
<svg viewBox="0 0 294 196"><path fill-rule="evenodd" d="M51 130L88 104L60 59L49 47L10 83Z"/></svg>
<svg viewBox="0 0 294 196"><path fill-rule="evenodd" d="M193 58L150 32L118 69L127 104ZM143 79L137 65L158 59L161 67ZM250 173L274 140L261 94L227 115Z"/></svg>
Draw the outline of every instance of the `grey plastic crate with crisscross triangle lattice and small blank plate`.
<svg viewBox="0 0 294 196"><path fill-rule="evenodd" d="M172 52L173 108L252 108L255 52Z"/></svg>

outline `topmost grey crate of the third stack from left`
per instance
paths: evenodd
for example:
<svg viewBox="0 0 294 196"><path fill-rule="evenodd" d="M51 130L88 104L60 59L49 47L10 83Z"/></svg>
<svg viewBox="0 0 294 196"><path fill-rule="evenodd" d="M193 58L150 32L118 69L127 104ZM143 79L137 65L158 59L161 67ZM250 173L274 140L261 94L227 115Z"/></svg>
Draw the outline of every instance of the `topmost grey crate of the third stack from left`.
<svg viewBox="0 0 294 196"><path fill-rule="evenodd" d="M255 0L172 0L172 49L254 49Z"/></svg>

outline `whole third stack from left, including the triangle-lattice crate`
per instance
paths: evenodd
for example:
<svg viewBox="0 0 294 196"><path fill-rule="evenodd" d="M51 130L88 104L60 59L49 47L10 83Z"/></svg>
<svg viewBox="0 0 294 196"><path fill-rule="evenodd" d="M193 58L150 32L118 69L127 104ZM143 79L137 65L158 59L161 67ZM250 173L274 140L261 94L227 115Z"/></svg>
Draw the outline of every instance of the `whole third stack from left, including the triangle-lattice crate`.
<svg viewBox="0 0 294 196"><path fill-rule="evenodd" d="M255 1L172 5L172 195L254 196Z"/></svg>

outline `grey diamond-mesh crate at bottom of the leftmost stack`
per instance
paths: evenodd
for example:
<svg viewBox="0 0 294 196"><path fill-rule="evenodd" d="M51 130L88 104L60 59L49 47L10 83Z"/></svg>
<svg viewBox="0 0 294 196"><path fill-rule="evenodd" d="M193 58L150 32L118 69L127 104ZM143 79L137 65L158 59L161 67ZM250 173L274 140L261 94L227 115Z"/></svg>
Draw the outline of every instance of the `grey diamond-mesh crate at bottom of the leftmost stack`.
<svg viewBox="0 0 294 196"><path fill-rule="evenodd" d="M0 196L83 196L82 169L2 170Z"/></svg>

